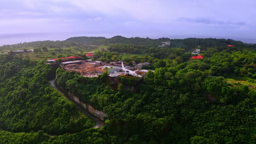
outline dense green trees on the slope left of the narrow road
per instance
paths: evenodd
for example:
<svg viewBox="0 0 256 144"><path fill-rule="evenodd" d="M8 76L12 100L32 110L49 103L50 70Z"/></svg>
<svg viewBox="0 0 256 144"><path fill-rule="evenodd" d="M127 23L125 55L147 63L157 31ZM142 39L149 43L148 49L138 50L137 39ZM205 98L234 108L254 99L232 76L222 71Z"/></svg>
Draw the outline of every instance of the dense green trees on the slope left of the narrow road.
<svg viewBox="0 0 256 144"><path fill-rule="evenodd" d="M74 107L49 85L53 73L49 64L11 55L1 56L1 59L0 128L63 134L93 126L88 117L71 117L71 111L76 111ZM81 121L89 122L84 125ZM77 126L69 127L70 124Z"/></svg>

